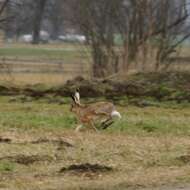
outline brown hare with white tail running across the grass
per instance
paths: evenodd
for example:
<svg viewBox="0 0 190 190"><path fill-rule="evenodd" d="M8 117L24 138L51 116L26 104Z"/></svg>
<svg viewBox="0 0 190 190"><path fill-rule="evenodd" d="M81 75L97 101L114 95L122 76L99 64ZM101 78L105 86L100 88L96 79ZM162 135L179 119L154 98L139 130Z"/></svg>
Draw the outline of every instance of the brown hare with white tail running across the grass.
<svg viewBox="0 0 190 190"><path fill-rule="evenodd" d="M94 125L95 121L100 121L102 129L106 129L114 122L115 117L121 118L120 113L111 102L81 104L78 91L75 92L72 99L71 111L76 114L78 122L80 122L75 131L79 131L82 125L88 125L97 131Z"/></svg>

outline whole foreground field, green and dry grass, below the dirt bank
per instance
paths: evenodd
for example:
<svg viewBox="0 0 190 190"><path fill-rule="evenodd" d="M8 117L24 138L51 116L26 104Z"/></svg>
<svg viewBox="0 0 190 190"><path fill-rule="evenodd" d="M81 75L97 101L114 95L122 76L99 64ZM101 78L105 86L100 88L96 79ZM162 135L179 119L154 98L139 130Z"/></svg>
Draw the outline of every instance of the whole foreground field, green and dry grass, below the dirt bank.
<svg viewBox="0 0 190 190"><path fill-rule="evenodd" d="M0 98L0 189L141 189L190 182L190 106L118 107L76 133L69 99Z"/></svg>

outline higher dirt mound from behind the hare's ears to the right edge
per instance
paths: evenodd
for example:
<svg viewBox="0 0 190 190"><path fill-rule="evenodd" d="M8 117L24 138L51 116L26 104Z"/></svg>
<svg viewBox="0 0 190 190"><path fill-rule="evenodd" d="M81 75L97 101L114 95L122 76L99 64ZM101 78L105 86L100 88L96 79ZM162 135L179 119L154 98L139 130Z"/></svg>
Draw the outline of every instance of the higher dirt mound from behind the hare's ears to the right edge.
<svg viewBox="0 0 190 190"><path fill-rule="evenodd" d="M76 78L68 81L60 92L70 94L79 88L82 97L104 96L110 99L119 97L153 97L157 100L187 100L190 102L190 73L164 72L139 73L123 81L85 80ZM64 93L63 93L64 95ZM65 94L66 95L66 94Z"/></svg>

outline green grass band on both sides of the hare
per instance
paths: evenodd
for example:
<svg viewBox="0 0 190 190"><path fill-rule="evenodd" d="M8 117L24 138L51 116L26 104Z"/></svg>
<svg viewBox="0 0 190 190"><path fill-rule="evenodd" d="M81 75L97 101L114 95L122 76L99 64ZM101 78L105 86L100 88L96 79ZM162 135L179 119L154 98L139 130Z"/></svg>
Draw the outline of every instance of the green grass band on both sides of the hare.
<svg viewBox="0 0 190 190"><path fill-rule="evenodd" d="M1 97L0 126L7 130L45 129L64 130L76 126L76 117L71 113L68 99L66 104L49 104L46 99L28 103L9 102ZM160 107L118 107L122 119L116 121L108 132L124 132L132 135L175 134L190 135L190 106L162 104Z"/></svg>

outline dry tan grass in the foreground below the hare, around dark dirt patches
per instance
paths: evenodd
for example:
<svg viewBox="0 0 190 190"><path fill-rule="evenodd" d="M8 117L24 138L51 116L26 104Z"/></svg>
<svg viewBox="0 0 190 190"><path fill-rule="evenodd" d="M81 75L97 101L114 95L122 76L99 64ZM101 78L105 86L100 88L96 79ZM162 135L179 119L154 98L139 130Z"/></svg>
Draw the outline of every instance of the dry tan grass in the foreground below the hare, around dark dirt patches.
<svg viewBox="0 0 190 190"><path fill-rule="evenodd" d="M38 134L37 134L38 133ZM77 133L22 133L6 132L1 136L12 139L11 144L0 144L0 157L49 155L50 161L31 165L15 164L12 172L1 172L5 189L126 189L156 187L185 182L190 167L178 160L189 154L188 137L135 137L124 134ZM73 145L37 143L37 139L62 139ZM59 173L62 167L91 163L113 168L107 173Z"/></svg>

